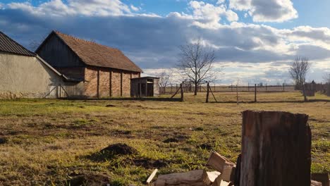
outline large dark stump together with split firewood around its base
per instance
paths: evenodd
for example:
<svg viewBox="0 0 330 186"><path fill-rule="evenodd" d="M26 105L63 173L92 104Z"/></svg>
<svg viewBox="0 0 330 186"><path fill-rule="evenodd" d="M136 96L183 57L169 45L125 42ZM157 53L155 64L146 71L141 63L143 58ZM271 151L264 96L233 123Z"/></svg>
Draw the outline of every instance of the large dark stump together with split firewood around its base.
<svg viewBox="0 0 330 186"><path fill-rule="evenodd" d="M310 179L311 131L307 120L305 114L244 111L242 154L237 163L212 151L206 166L214 171L159 175L154 186L329 186L327 174ZM157 169L148 184L156 173Z"/></svg>

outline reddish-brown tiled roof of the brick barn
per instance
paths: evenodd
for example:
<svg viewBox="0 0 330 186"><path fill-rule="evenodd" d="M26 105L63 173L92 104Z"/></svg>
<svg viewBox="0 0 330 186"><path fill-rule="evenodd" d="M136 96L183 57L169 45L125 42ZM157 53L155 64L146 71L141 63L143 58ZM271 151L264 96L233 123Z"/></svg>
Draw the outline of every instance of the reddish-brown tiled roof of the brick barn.
<svg viewBox="0 0 330 186"><path fill-rule="evenodd" d="M61 32L56 31L54 33L77 54L82 62L89 66L142 72L141 68L136 66L133 61L130 61L130 59L118 49L65 35Z"/></svg>

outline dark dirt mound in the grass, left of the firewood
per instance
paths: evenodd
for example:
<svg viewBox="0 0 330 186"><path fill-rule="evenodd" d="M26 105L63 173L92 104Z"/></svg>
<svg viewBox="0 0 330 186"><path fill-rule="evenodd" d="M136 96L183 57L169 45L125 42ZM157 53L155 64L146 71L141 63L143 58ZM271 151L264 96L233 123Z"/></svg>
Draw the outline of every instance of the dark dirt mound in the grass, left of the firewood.
<svg viewBox="0 0 330 186"><path fill-rule="evenodd" d="M128 146L127 144L111 144L108 147L91 154L87 158L93 161L106 161L109 159L114 159L116 156L125 156L138 154L138 150Z"/></svg>

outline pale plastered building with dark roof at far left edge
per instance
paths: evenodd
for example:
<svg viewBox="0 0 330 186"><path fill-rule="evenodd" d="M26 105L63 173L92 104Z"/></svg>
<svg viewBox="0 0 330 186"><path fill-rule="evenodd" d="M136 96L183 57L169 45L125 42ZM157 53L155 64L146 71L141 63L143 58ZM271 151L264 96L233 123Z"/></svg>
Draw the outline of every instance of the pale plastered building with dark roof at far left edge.
<svg viewBox="0 0 330 186"><path fill-rule="evenodd" d="M0 99L58 98L66 77L0 32Z"/></svg>

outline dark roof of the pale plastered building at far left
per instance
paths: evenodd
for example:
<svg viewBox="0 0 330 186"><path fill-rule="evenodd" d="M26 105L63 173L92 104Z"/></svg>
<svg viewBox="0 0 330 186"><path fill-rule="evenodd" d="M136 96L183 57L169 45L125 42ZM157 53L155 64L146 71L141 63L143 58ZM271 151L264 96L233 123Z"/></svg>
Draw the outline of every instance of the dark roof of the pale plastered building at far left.
<svg viewBox="0 0 330 186"><path fill-rule="evenodd" d="M15 42L3 32L0 32L0 51L23 56L36 56L35 53L29 51L28 49L25 49L24 46L18 44L18 42Z"/></svg>

